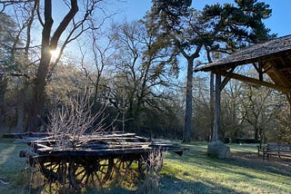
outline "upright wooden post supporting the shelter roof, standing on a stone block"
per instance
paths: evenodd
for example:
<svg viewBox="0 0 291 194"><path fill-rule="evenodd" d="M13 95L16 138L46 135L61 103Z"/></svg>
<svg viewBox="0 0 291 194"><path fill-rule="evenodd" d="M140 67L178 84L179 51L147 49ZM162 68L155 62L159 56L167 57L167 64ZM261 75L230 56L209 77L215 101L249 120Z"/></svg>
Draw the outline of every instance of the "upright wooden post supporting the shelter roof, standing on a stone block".
<svg viewBox="0 0 291 194"><path fill-rule="evenodd" d="M215 104L215 121L212 141L218 141L218 131L220 131L220 83L221 75L216 74L216 104Z"/></svg>

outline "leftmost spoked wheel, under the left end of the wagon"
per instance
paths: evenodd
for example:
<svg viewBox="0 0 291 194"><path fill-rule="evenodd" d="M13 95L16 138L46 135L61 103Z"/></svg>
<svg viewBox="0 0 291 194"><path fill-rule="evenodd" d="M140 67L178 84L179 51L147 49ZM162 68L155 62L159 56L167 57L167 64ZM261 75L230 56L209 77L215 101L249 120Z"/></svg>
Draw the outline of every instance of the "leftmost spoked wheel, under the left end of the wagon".
<svg viewBox="0 0 291 194"><path fill-rule="evenodd" d="M48 181L65 183L67 165L64 160L39 162L39 166Z"/></svg>

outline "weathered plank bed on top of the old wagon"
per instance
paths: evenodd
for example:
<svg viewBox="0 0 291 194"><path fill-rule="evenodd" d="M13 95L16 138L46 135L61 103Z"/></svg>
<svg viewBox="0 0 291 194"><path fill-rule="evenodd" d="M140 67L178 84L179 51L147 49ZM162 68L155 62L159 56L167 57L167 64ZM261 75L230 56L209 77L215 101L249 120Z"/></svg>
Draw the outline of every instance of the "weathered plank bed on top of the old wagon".
<svg viewBox="0 0 291 194"><path fill-rule="evenodd" d="M150 151L176 151L178 154L182 154L185 149L181 149L176 145L154 143L148 141L148 139L132 136L135 133L125 134L106 134L106 135L83 135L78 137L77 145L75 148L68 145L67 147L58 146L58 139L55 136L46 137L44 139L30 141L30 146L35 152L31 153L31 156L43 157L44 160L60 160L68 159L70 157L121 157L124 154L130 155L130 157L140 156ZM65 135L68 138L68 142L72 139L70 135ZM141 141L142 140L142 141ZM46 159L48 158L48 159Z"/></svg>

